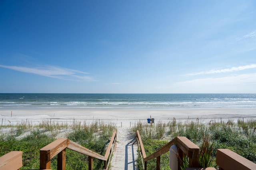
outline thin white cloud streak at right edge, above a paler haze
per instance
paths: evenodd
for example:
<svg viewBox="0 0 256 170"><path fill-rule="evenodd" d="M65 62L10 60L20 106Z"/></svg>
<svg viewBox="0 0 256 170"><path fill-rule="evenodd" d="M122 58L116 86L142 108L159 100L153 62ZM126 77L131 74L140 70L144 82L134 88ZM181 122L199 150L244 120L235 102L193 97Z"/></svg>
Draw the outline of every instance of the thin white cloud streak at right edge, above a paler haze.
<svg viewBox="0 0 256 170"><path fill-rule="evenodd" d="M216 73L224 73L224 72L234 72L234 71L240 71L240 70L246 70L250 68L256 68L256 64L250 64L246 66L238 66L238 67L231 67L231 68L225 68L225 69L213 69L209 71L202 71L202 72L194 72L194 73L189 73L186 75L189 76L194 76L194 75L199 75L199 74L216 74Z"/></svg>

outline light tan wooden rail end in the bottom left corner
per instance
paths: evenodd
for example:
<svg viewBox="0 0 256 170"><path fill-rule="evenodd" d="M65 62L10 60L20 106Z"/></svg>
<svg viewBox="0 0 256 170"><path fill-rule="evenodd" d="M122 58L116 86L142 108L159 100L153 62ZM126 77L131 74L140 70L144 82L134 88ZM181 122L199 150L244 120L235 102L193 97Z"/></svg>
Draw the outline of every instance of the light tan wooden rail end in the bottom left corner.
<svg viewBox="0 0 256 170"><path fill-rule="evenodd" d="M0 157L0 170L18 170L21 167L21 151L12 151Z"/></svg>

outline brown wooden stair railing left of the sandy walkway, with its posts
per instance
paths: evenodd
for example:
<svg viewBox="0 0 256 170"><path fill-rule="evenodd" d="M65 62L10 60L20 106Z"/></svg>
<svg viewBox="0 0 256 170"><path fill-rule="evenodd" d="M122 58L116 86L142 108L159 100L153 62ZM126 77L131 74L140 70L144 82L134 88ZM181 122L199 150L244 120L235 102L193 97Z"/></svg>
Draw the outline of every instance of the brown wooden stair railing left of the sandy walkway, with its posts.
<svg viewBox="0 0 256 170"><path fill-rule="evenodd" d="M106 150L105 156L97 154L73 141L70 141L66 138L60 138L56 141L46 145L40 149L40 169L50 169L51 168L51 159L58 155L57 159L57 169L65 170L66 169L66 148L80 152L82 154L88 155L88 170L92 170L93 160L92 158L97 158L104 161L104 168L107 170L112 154L112 146L116 142L116 131L114 131L108 148ZM108 162L107 162L108 160Z"/></svg>

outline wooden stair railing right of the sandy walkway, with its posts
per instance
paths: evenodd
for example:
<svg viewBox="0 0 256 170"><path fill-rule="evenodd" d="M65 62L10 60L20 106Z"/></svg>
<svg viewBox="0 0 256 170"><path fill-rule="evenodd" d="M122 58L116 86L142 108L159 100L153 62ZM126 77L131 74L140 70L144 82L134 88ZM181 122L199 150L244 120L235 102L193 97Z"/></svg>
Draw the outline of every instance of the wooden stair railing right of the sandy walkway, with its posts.
<svg viewBox="0 0 256 170"><path fill-rule="evenodd" d="M147 169L147 161L156 158L156 170L160 170L160 156L170 150L172 145L176 145L178 148L178 154L180 158L183 158L184 155L188 156L189 167L198 167L198 156L199 156L199 147L188 140L186 137L176 137L162 148L158 149L153 154L146 156L142 139L140 137L139 131L136 132L137 142L140 150L140 155L142 157L142 166L143 169ZM144 163L143 163L144 162ZM178 164L180 168L180 164Z"/></svg>

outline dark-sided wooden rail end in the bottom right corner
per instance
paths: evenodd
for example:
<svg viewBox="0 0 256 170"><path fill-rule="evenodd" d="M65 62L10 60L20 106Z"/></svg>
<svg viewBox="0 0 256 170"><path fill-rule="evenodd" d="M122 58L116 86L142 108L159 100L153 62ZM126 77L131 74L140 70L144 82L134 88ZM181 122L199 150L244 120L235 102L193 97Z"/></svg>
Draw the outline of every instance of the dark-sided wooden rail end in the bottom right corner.
<svg viewBox="0 0 256 170"><path fill-rule="evenodd" d="M256 170L256 164L229 149L218 149L216 163L224 170Z"/></svg>

